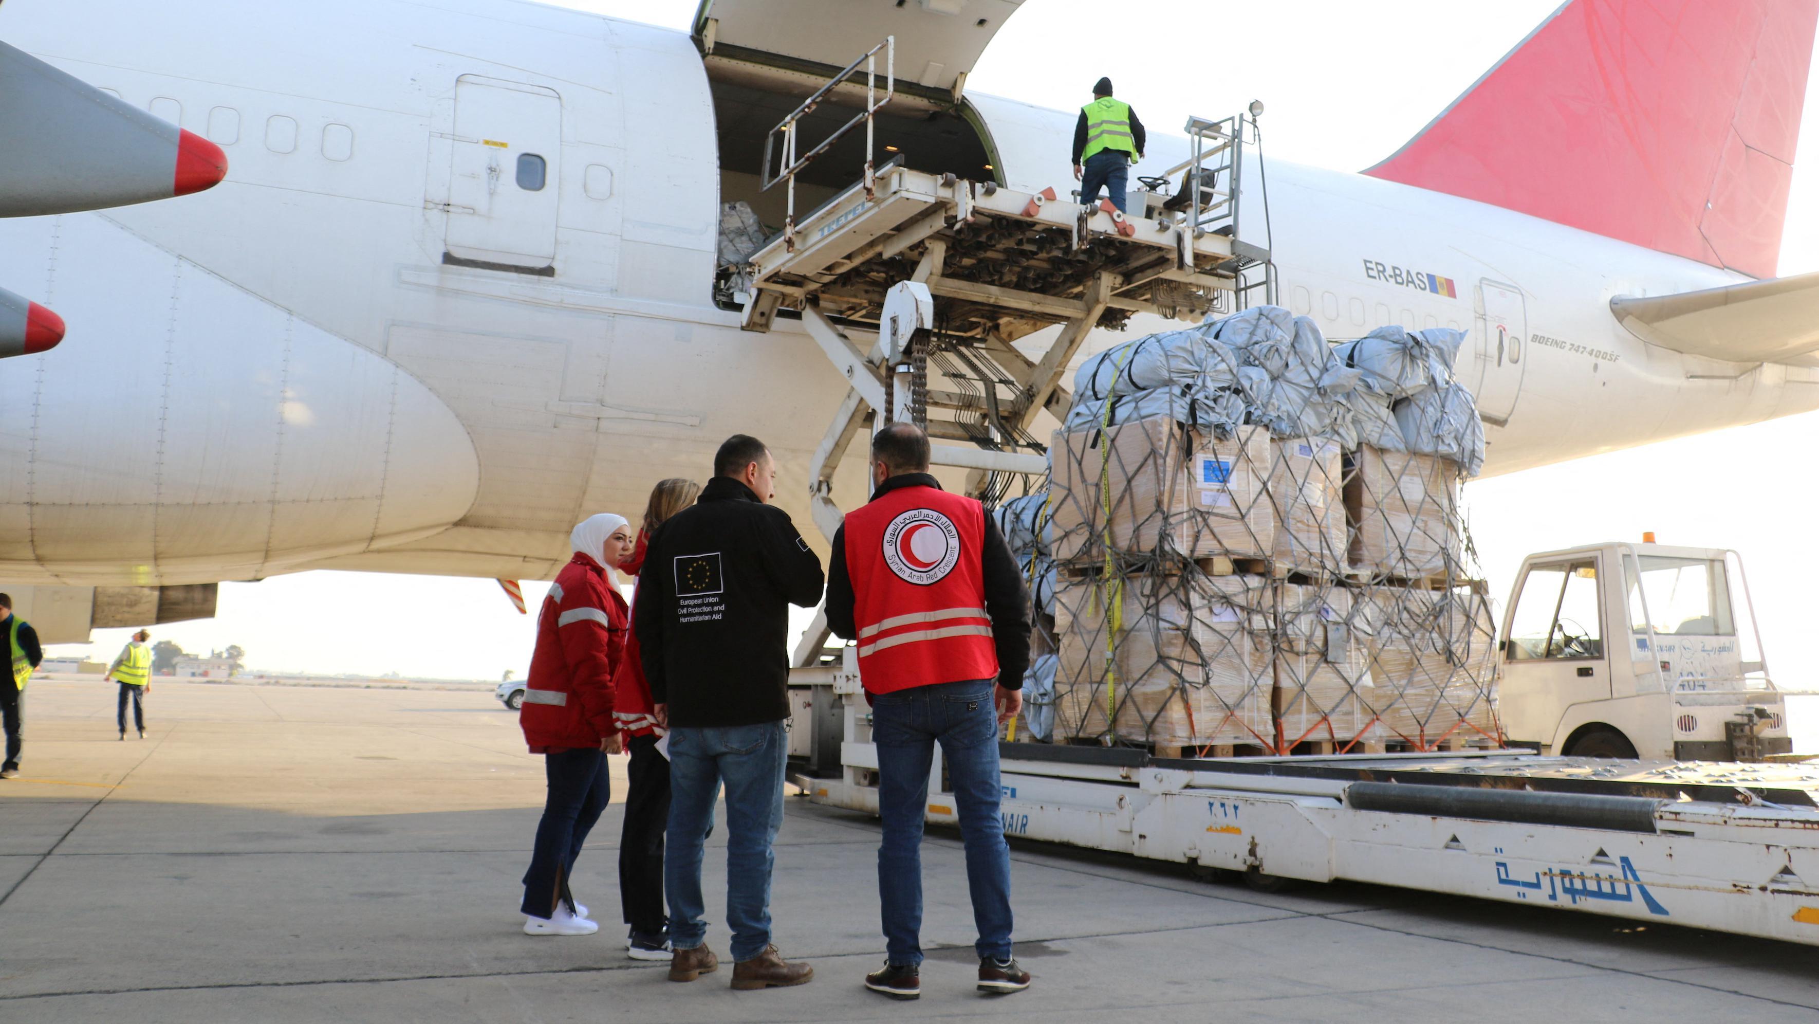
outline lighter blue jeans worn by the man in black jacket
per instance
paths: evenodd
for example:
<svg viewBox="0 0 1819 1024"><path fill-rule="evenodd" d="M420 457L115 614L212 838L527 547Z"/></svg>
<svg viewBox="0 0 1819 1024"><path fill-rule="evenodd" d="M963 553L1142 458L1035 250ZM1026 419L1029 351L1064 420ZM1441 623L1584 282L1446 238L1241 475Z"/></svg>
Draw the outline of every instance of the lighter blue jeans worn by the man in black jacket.
<svg viewBox="0 0 1819 1024"><path fill-rule="evenodd" d="M720 782L726 782L726 924L733 929L733 960L749 960L771 944L771 840L784 824L788 757L782 722L669 729L664 888L669 942L677 949L693 949L708 939L700 857L713 831Z"/></svg>

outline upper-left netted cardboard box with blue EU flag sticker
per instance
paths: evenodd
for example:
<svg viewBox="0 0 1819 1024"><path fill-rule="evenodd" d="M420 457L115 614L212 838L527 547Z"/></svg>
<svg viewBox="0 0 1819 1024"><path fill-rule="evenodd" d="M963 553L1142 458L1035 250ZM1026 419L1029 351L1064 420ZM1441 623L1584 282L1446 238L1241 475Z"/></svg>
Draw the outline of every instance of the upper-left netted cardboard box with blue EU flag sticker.
<svg viewBox="0 0 1819 1024"><path fill-rule="evenodd" d="M1050 529L1060 562L1100 564L1106 544L1121 562L1153 553L1271 553L1270 435L1262 427L1217 440L1159 417L1104 437L1055 433L1050 451Z"/></svg>

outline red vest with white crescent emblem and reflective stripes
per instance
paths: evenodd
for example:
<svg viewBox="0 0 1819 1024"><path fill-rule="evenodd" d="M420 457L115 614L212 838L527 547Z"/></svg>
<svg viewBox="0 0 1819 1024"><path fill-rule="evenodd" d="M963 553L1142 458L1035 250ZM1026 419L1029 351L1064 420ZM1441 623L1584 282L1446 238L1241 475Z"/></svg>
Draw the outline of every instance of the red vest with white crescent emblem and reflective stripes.
<svg viewBox="0 0 1819 1024"><path fill-rule="evenodd" d="M859 677L871 693L997 678L980 553L986 509L902 487L846 515Z"/></svg>

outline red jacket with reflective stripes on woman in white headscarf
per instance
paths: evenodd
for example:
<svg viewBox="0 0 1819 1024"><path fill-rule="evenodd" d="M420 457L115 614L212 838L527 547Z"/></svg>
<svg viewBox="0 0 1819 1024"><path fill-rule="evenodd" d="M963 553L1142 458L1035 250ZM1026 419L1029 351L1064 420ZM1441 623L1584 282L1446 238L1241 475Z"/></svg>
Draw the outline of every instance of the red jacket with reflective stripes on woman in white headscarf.
<svg viewBox="0 0 1819 1024"><path fill-rule="evenodd" d="M518 726L531 753L597 748L613 735L613 671L626 657L626 598L593 558L557 573L537 617Z"/></svg>

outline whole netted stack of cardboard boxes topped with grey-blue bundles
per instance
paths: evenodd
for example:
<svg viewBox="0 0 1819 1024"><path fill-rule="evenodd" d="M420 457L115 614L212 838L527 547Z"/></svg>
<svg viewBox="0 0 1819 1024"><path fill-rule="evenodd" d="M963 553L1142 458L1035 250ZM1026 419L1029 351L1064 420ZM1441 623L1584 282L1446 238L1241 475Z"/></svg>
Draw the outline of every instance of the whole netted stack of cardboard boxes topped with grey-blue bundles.
<svg viewBox="0 0 1819 1024"><path fill-rule="evenodd" d="M1037 611L1019 738L1501 746L1462 338L1257 307L1090 358L1048 491L995 509Z"/></svg>

